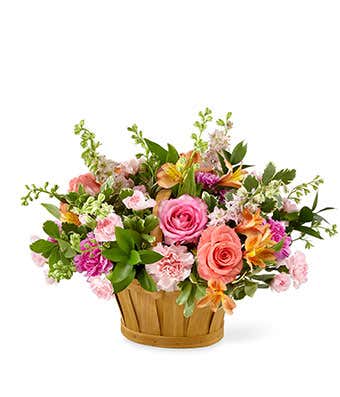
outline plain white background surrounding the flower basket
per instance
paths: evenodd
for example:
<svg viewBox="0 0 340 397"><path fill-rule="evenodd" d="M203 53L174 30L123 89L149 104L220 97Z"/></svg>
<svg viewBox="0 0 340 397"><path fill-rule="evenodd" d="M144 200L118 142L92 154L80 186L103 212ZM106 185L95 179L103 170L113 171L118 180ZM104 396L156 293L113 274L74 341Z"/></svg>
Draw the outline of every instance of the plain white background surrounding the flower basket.
<svg viewBox="0 0 340 397"><path fill-rule="evenodd" d="M184 151L208 105L233 112L260 170L321 174L321 202L339 206L337 3L1 1L2 396L339 395L338 238L307 253L299 290L240 302L219 344L162 350L124 340L81 277L45 284L28 242L48 215L19 205L24 184L85 171L80 119L123 160L129 124Z"/></svg>

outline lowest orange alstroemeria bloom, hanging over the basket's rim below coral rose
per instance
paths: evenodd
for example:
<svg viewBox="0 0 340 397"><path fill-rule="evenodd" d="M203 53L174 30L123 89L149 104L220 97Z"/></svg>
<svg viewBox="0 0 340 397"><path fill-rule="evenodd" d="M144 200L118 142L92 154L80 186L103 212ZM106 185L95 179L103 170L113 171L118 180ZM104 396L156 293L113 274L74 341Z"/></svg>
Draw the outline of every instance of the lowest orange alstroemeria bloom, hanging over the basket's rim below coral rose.
<svg viewBox="0 0 340 397"><path fill-rule="evenodd" d="M216 312L220 304L222 304L222 307L227 314L233 314L233 309L235 309L236 304L230 296L224 293L226 289L227 288L223 281L213 279L209 280L206 296L197 302L197 307L200 308L210 305L211 310Z"/></svg>

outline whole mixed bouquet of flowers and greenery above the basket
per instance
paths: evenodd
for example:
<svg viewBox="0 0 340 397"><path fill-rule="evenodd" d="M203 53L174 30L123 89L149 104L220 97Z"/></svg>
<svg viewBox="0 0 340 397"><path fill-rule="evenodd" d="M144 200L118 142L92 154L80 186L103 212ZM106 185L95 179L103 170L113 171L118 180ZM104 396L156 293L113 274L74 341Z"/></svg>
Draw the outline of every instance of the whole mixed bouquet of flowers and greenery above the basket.
<svg viewBox="0 0 340 397"><path fill-rule="evenodd" d="M257 289L305 283L308 266L294 242L308 249L312 238L336 233L321 215L332 208L317 208L323 180L291 187L296 171L272 162L256 173L244 162L247 145L230 147L231 113L204 140L212 121L210 109L199 112L186 153L145 138L134 124L128 131L142 151L126 162L101 155L95 134L77 124L90 172L73 178L67 193L46 182L27 185L22 197L23 205L41 194L59 202L42 204L56 220L44 223L47 238L30 245L48 282L78 272L109 299L137 279L148 291L178 290L187 317L206 305L231 314L235 300ZM312 204L302 206L312 192Z"/></svg>

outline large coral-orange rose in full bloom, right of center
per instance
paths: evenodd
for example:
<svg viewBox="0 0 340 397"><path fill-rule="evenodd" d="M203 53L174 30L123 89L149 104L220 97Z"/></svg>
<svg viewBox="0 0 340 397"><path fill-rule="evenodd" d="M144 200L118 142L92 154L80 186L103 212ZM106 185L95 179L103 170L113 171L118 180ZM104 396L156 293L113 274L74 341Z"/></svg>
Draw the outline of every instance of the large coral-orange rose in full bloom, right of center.
<svg viewBox="0 0 340 397"><path fill-rule="evenodd" d="M242 270L241 241L226 225L209 226L197 247L198 274L205 280L235 280Z"/></svg>

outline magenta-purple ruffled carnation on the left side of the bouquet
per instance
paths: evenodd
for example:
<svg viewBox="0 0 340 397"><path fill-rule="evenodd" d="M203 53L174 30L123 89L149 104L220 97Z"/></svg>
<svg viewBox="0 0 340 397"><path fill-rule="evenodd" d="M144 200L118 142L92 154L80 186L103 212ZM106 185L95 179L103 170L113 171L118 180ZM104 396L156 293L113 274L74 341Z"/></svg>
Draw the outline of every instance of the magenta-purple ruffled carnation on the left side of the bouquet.
<svg viewBox="0 0 340 397"><path fill-rule="evenodd" d="M81 254L74 257L77 272L86 272L88 277L100 276L112 269L112 263L101 254L94 233L89 233L87 238L80 242Z"/></svg>

